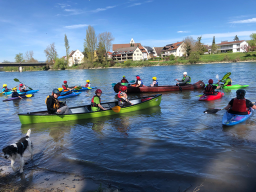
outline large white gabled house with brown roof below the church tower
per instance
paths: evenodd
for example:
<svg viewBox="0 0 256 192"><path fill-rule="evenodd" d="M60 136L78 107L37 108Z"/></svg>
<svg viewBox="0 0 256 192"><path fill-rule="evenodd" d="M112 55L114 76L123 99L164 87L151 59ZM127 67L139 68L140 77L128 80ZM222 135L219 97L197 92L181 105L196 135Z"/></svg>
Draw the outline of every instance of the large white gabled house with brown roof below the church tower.
<svg viewBox="0 0 256 192"><path fill-rule="evenodd" d="M112 59L117 60L118 62L123 62L125 60L142 60L142 51L138 48L138 46L117 48L112 53Z"/></svg>

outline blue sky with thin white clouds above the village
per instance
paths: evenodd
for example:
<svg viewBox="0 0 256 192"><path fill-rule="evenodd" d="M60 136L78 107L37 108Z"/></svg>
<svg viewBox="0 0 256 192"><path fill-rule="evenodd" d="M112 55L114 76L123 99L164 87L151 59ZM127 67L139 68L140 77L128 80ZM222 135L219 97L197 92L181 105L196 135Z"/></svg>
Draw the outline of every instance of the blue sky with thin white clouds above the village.
<svg viewBox="0 0 256 192"><path fill-rule="evenodd" d="M43 50L54 42L65 55L64 34L70 51L83 50L86 28L96 34L111 32L116 43L131 37L144 46L164 46L185 36L211 45L248 40L256 33L256 0L0 0L0 62L32 50L45 60Z"/></svg>

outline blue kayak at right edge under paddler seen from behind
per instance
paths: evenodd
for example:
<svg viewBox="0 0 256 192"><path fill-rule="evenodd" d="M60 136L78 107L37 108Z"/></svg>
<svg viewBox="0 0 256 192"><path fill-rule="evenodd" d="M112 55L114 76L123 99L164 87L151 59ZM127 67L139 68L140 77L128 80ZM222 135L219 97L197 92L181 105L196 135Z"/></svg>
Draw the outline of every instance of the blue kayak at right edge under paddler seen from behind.
<svg viewBox="0 0 256 192"><path fill-rule="evenodd" d="M254 109L251 107L249 107L249 110L249 114L232 114L226 111L222 117L222 124L232 126L247 120L254 112Z"/></svg>

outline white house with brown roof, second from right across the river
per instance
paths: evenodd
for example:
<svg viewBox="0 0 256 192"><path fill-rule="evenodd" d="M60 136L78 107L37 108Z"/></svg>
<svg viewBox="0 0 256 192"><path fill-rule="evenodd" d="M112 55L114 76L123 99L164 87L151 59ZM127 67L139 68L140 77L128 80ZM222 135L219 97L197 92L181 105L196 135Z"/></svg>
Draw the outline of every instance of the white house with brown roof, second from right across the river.
<svg viewBox="0 0 256 192"><path fill-rule="evenodd" d="M175 42L171 44L166 44L161 50L162 56L169 56L171 54L173 54L174 56L185 55L185 52L183 51L183 48L182 48L183 43L184 43L183 41L180 41L180 42Z"/></svg>

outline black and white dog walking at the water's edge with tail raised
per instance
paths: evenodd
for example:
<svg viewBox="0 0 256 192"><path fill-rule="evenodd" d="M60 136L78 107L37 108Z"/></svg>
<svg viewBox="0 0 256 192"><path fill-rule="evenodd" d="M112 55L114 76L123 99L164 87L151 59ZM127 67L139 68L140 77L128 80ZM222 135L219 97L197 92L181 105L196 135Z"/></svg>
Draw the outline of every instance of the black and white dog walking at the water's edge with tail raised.
<svg viewBox="0 0 256 192"><path fill-rule="evenodd" d="M23 153L26 148L31 153L31 159L33 159L32 143L29 139L30 133L31 133L31 130L28 129L25 137L20 138L17 142L10 144L9 146L6 146L5 148L2 149L2 152L4 153L3 157L5 159L11 160L10 166L13 171L15 171L15 167L13 166L15 159L19 159L19 164L20 164L19 172L20 173L23 172L23 166L24 166Z"/></svg>

